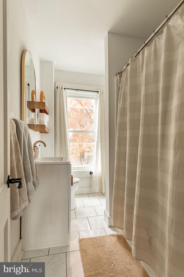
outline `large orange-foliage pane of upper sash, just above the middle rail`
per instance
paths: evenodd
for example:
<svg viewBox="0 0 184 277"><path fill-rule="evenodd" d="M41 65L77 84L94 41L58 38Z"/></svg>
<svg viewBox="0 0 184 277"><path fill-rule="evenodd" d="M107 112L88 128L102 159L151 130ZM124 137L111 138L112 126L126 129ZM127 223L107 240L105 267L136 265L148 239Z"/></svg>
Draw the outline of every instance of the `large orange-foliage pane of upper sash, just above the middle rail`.
<svg viewBox="0 0 184 277"><path fill-rule="evenodd" d="M94 131L94 109L68 108L68 129L76 131Z"/></svg>

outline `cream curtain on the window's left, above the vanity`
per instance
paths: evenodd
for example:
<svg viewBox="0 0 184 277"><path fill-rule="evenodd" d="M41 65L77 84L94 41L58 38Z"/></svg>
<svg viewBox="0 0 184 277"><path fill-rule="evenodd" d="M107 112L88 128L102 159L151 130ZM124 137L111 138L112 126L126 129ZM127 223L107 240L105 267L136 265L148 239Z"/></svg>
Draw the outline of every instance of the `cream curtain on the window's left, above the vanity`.
<svg viewBox="0 0 184 277"><path fill-rule="evenodd" d="M56 157L69 157L67 97L63 86L56 89Z"/></svg>

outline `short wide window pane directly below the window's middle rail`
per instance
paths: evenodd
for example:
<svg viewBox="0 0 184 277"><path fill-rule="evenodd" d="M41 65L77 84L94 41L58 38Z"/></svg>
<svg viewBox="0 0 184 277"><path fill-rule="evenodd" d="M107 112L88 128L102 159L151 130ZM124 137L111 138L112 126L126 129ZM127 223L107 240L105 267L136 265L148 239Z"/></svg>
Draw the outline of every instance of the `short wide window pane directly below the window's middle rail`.
<svg viewBox="0 0 184 277"><path fill-rule="evenodd" d="M69 143L95 143L95 133L70 133Z"/></svg>

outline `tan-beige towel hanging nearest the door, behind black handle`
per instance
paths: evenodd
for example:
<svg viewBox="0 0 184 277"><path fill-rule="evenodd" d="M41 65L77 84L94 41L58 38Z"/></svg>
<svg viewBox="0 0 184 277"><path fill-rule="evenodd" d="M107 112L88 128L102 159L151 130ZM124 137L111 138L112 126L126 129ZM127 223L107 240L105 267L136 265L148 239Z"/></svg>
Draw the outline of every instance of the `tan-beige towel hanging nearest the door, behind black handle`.
<svg viewBox="0 0 184 277"><path fill-rule="evenodd" d="M10 218L16 220L28 207L28 197L24 170L20 156L20 148L16 134L16 124L10 119L10 177L22 178L22 188L17 188L18 183L10 186Z"/></svg>

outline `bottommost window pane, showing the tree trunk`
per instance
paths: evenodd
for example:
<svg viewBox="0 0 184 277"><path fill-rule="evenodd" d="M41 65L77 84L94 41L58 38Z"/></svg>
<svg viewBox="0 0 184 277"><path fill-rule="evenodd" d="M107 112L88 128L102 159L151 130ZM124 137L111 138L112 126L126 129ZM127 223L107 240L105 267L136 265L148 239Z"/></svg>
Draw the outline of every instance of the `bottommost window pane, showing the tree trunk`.
<svg viewBox="0 0 184 277"><path fill-rule="evenodd" d="M69 143L72 166L93 166L94 143Z"/></svg>

